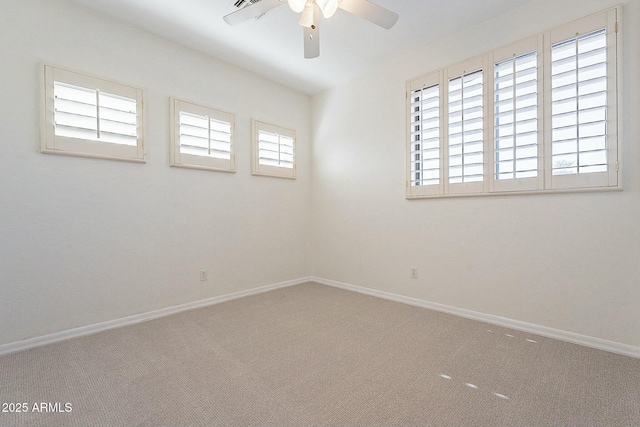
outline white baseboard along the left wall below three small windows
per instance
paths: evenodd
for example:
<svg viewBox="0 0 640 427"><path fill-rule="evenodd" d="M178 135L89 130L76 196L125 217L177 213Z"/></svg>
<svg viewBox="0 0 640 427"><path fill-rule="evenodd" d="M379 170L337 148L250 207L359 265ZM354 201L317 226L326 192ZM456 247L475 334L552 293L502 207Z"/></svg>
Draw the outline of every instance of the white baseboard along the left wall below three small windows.
<svg viewBox="0 0 640 427"><path fill-rule="evenodd" d="M258 288L253 288L253 289L247 289L245 291L234 292L232 294L221 295L213 298L207 298L200 301L194 301L186 304L175 305L172 307L161 308L160 310L154 310L154 311L149 311L147 313L135 314L133 316L127 316L120 319L114 319L114 320L109 320L102 323L96 323L94 325L82 326L80 328L69 329L67 331L56 332L49 335L30 338L25 341L18 341L15 343L3 344L3 345L0 345L0 356L4 354L9 354L9 353L15 353L17 351L28 350L35 347L41 347L47 344L53 344L56 342L65 341L71 338L77 338L85 335L92 335L92 334L106 331L109 329L134 325L136 323L142 323L148 320L170 316L172 314L180 313L183 311L193 310L195 308L202 308L202 307L207 307L214 304L220 304L225 301L242 298L249 295L260 294L262 292L272 291L274 289L299 285L309 281L311 281L310 277L303 277L300 279L289 280L286 282L275 283L272 285L260 286Z"/></svg>

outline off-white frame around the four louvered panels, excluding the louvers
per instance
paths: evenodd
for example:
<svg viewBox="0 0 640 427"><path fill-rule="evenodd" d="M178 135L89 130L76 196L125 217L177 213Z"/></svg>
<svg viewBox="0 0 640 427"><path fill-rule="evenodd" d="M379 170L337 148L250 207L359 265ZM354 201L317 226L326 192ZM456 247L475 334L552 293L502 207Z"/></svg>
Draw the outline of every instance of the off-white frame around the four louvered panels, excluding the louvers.
<svg viewBox="0 0 640 427"><path fill-rule="evenodd" d="M496 49L469 61L412 79L407 82L406 198L459 197L470 195L539 194L566 191L621 190L621 138L618 133L619 103L617 92L618 64L621 55L621 6L600 12L552 31ZM551 150L551 47L581 34L606 29L607 32L607 172L580 175L552 175ZM536 51L537 55L537 126L538 173L535 178L497 180L495 177L494 66L510 57ZM480 65L482 64L482 65ZM448 84L451 78L465 72L483 69L484 76L484 179L482 182L449 183L448 177ZM412 185L411 110L414 91L440 85L440 184Z"/></svg>

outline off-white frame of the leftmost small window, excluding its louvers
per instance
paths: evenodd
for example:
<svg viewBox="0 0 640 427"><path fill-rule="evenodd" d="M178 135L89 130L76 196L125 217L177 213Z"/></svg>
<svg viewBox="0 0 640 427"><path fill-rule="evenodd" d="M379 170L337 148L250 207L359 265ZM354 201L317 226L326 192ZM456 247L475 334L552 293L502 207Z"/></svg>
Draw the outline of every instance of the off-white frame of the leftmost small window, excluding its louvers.
<svg viewBox="0 0 640 427"><path fill-rule="evenodd" d="M145 163L144 150L144 91L119 83L49 64L41 64L41 138L40 151L47 154L93 157ZM71 138L56 135L54 83L60 82L136 101L136 145L123 145L95 139Z"/></svg>

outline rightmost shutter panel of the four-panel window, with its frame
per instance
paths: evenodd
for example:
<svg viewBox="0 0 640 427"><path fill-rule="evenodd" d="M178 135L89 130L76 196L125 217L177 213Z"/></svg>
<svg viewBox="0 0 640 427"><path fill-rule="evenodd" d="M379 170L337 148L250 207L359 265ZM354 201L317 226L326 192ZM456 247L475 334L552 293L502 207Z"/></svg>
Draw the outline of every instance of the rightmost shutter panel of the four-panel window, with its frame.
<svg viewBox="0 0 640 427"><path fill-rule="evenodd" d="M550 47L549 180L553 188L617 184L615 10L557 31Z"/></svg>

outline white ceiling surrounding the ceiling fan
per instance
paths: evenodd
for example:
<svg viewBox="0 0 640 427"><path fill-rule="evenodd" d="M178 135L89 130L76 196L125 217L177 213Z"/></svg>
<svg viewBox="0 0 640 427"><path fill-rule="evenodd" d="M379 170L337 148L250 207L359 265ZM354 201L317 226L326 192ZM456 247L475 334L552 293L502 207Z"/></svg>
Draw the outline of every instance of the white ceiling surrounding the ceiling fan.
<svg viewBox="0 0 640 427"><path fill-rule="evenodd" d="M320 57L304 59L302 27L284 2L238 26L233 0L73 0L307 94L531 0L373 0L400 15L385 30L343 10L319 23Z"/></svg>

